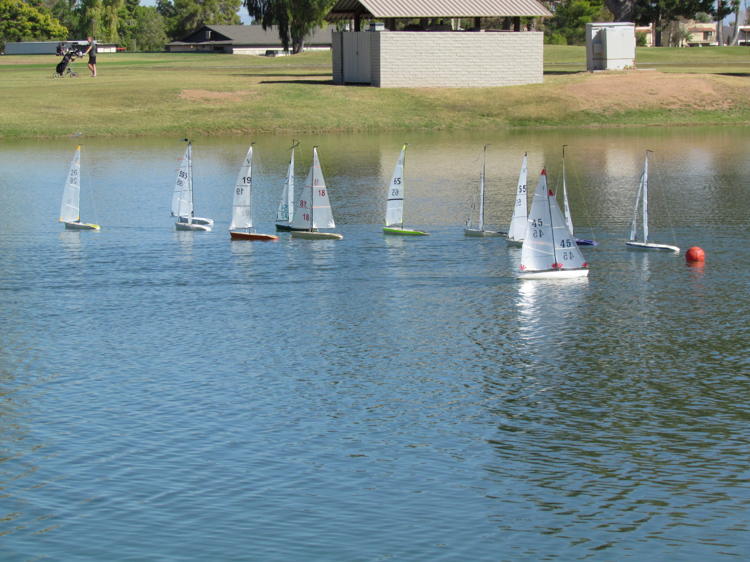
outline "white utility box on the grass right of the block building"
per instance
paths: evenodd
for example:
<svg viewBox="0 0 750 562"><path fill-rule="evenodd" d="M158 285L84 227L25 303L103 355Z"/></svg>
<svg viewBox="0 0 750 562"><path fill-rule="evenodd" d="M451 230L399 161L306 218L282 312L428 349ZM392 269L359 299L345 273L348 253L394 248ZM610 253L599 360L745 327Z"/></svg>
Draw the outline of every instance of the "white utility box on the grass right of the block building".
<svg viewBox="0 0 750 562"><path fill-rule="evenodd" d="M635 24L586 23L586 69L635 68Z"/></svg>

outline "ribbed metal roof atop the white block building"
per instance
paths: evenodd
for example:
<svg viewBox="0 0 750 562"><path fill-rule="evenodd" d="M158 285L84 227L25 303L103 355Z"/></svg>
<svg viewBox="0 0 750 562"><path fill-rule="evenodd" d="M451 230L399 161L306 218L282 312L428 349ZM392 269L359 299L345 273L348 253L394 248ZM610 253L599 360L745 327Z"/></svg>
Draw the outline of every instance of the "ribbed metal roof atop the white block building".
<svg viewBox="0 0 750 562"><path fill-rule="evenodd" d="M338 0L326 19L551 16L535 0Z"/></svg>

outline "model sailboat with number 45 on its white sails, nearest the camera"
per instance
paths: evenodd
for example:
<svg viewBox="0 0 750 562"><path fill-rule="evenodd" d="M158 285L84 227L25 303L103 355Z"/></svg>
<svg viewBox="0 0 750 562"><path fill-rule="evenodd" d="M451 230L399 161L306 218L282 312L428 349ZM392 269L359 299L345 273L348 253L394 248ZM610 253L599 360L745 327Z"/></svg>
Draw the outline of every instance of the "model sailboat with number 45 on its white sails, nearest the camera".
<svg viewBox="0 0 750 562"><path fill-rule="evenodd" d="M545 170L541 170L526 219L520 262L523 273L517 279L569 279L589 274L565 217L547 187Z"/></svg>

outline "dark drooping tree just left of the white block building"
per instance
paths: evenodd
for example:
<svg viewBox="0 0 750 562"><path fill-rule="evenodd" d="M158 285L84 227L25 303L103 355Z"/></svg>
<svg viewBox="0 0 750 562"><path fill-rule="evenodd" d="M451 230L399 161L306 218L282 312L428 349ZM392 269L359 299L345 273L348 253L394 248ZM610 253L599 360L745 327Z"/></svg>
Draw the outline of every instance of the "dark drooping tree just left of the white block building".
<svg viewBox="0 0 750 562"><path fill-rule="evenodd" d="M314 28L325 25L323 18L336 0L244 0L248 13L268 29L278 25L279 39L285 51L294 54L305 48L305 37Z"/></svg>

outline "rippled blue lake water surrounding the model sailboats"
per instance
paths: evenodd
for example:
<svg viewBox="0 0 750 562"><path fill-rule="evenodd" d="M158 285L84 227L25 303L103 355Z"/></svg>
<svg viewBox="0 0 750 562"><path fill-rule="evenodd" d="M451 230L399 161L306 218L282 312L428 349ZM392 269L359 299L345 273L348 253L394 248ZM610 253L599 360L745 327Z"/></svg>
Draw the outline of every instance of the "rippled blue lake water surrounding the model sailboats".
<svg viewBox="0 0 750 562"><path fill-rule="evenodd" d="M177 138L82 137L101 232L57 222L78 139L0 142L3 561L747 555L750 129L295 138L342 241L229 241L248 143L273 232L291 136L195 139L205 233L169 217ZM402 142L429 237L380 231ZM587 280L463 237L486 143L496 226L568 145ZM646 148L680 255L624 247Z"/></svg>

